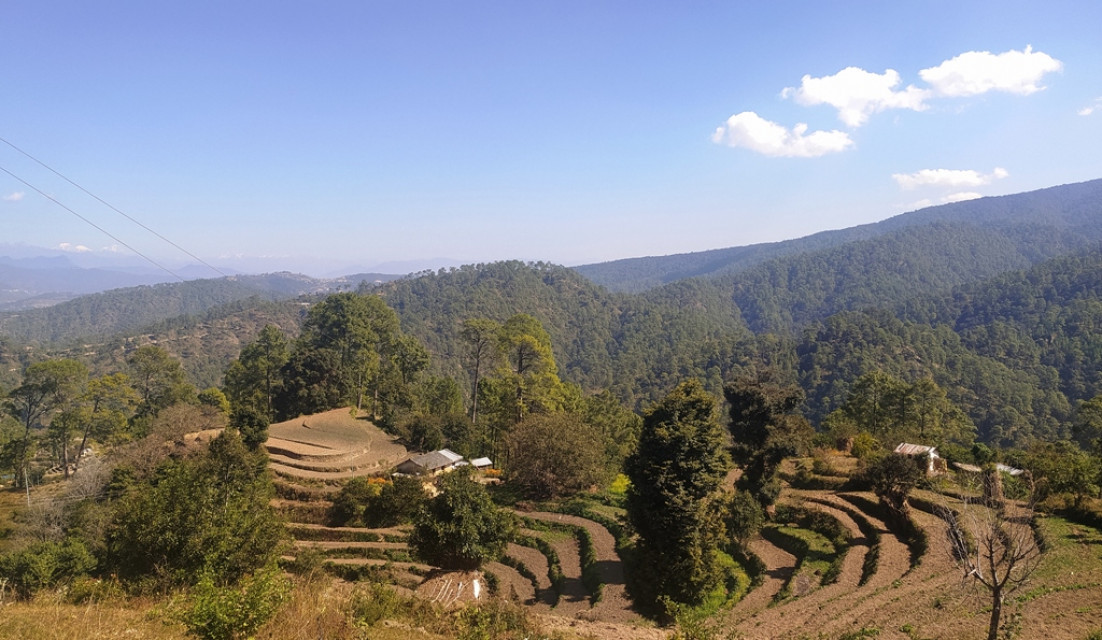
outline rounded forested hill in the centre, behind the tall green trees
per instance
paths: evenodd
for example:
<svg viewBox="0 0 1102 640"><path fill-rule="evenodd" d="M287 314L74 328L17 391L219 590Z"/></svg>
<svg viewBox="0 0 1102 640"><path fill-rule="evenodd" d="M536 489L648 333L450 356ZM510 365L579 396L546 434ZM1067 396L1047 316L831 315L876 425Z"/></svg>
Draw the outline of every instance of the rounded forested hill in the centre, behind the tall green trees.
<svg viewBox="0 0 1102 640"><path fill-rule="evenodd" d="M612 389L631 404L685 376L705 377L719 389L733 360L702 362L737 352L734 345L750 339L730 297L696 281L631 296L611 294L563 267L498 262L395 281L380 292L443 373L462 373L463 321L526 313L551 335L565 379Z"/></svg>

